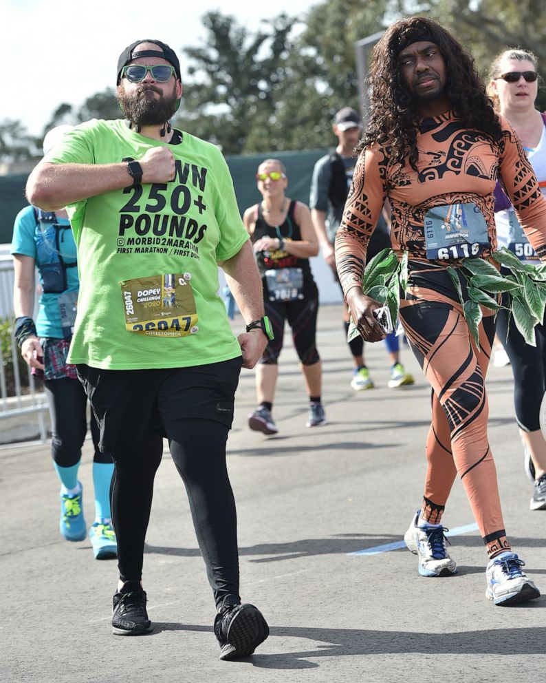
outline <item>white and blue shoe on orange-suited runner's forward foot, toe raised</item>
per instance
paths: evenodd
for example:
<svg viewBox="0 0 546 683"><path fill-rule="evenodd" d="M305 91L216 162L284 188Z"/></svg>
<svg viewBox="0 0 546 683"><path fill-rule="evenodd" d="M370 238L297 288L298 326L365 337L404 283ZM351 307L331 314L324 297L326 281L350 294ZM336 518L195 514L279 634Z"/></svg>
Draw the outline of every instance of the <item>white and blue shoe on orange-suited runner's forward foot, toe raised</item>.
<svg viewBox="0 0 546 683"><path fill-rule="evenodd" d="M540 591L522 571L521 567L524 566L523 560L508 551L490 560L485 570L488 582L485 597L493 600L495 605L518 605L538 598Z"/></svg>

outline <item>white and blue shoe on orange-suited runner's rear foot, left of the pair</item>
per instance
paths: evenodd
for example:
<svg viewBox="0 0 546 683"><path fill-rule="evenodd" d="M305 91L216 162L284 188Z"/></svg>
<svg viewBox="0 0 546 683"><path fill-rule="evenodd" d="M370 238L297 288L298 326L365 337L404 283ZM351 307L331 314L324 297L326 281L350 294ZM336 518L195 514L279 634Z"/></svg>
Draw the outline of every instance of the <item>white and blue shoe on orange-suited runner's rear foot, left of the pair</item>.
<svg viewBox="0 0 546 683"><path fill-rule="evenodd" d="M404 543L408 550L419 556L419 574L421 576L451 576L457 574L457 564L450 558L446 543L449 543L446 527L418 527L420 510L413 518L409 529L404 534Z"/></svg>

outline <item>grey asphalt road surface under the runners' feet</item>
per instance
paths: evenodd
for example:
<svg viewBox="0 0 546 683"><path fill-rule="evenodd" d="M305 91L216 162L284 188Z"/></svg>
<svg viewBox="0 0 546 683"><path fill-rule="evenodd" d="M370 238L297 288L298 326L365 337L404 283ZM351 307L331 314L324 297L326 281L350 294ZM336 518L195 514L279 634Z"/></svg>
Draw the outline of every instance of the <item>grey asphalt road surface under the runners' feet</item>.
<svg viewBox="0 0 546 683"><path fill-rule="evenodd" d="M241 327L236 318L234 329ZM241 593L263 611L270 638L251 658L219 661L212 593L167 448L144 557L154 630L140 638L112 635L115 560L94 560L87 540L61 538L50 448L14 444L0 448L0 680L542 679L546 598L512 608L485 600L487 559L459 481L444 515L459 574L422 578L417 558L401 547L422 497L430 419L430 389L409 350L402 350L402 360L415 386L386 388L386 352L374 344L367 345L367 361L375 388L354 392L340 306L322 308L318 348L328 424L308 429L303 380L290 335L285 339L274 405L279 434L248 430L254 375L243 370L228 441ZM487 386L505 527L529 577L546 593L546 511L529 511L532 484L523 472L510 367L490 368ZM88 524L94 514L90 445L80 467Z"/></svg>

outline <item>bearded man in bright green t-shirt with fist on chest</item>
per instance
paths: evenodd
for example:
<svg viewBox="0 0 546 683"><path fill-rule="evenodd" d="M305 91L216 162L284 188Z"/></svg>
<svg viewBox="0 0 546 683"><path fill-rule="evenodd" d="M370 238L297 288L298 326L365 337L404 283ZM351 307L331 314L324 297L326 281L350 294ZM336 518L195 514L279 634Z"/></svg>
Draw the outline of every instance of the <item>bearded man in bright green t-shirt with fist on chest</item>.
<svg viewBox="0 0 546 683"><path fill-rule="evenodd" d="M152 628L142 557L166 437L215 593L220 657L243 657L268 629L239 597L226 440L241 366L254 367L270 333L260 277L219 149L168 123L182 97L175 52L136 41L120 55L117 83L126 120L76 126L27 185L32 204L67 207L78 247L69 361L116 465L113 632ZM218 264L248 323L237 338L217 295Z"/></svg>

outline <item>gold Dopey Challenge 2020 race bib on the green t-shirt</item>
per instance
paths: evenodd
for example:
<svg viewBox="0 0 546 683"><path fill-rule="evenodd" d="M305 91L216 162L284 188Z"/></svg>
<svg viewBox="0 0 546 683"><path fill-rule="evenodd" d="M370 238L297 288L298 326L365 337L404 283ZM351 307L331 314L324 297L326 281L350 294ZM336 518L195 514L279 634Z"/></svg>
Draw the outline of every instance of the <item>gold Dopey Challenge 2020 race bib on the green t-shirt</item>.
<svg viewBox="0 0 546 683"><path fill-rule="evenodd" d="M120 282L125 329L153 337L199 331L190 273L166 273Z"/></svg>

